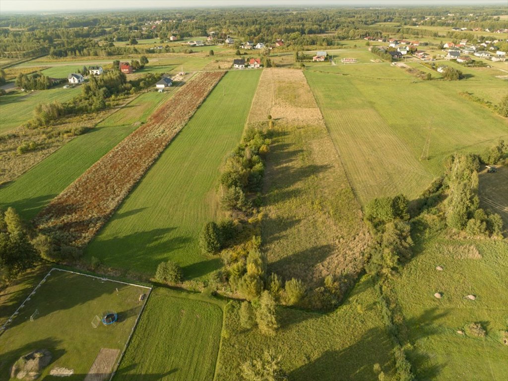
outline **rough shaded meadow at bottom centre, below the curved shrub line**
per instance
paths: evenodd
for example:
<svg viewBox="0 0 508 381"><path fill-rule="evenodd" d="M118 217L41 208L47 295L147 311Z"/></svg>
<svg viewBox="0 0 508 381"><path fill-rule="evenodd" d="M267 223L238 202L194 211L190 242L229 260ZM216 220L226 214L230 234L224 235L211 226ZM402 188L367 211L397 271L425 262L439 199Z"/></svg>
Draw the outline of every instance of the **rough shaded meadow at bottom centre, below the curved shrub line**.
<svg viewBox="0 0 508 381"><path fill-rule="evenodd" d="M382 323L373 281L364 277L348 300L330 313L277 308L276 336L240 326L239 302L226 308L216 379L239 380L241 365L271 350L292 381L377 379L378 363L393 376L392 341Z"/></svg>

